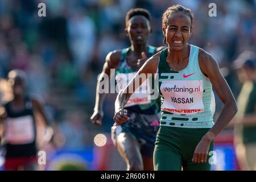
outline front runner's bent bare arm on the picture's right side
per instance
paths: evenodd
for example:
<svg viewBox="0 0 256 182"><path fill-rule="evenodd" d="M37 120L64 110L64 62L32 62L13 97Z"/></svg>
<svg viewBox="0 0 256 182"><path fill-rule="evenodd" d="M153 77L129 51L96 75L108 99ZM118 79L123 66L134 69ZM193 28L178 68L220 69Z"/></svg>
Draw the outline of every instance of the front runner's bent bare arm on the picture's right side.
<svg viewBox="0 0 256 182"><path fill-rule="evenodd" d="M209 151L210 142L216 137L226 125L231 121L234 115L237 113L237 104L234 99L233 93L229 88L228 83L220 72L218 63L213 59L207 52L200 50L199 53L199 65L201 71L205 76L207 76L216 90L218 97L224 103L224 108L221 111L216 123L208 131L207 134L201 139L199 144L197 144L193 162L200 163L200 160L204 159L207 162L207 155Z"/></svg>

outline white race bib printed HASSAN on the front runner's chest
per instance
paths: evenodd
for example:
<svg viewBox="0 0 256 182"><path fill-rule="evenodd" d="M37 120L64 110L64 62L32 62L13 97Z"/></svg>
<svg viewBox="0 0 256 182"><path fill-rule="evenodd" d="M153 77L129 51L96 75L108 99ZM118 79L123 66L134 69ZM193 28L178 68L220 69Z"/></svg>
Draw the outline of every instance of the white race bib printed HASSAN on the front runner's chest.
<svg viewBox="0 0 256 182"><path fill-rule="evenodd" d="M204 111L202 80L162 81L164 97L161 109L176 114L196 114Z"/></svg>

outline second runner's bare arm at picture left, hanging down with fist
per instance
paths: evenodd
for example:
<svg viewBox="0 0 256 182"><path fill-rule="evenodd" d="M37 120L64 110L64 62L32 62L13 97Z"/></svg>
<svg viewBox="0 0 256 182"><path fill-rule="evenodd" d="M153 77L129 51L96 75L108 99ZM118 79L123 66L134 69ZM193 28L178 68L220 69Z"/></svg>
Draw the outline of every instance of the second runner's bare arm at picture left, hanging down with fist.
<svg viewBox="0 0 256 182"><path fill-rule="evenodd" d="M103 81L102 79L104 79L105 74L108 75L109 78L110 78L110 76L113 76L113 75L110 75L110 69L115 69L115 68L118 67L121 55L122 55L122 51L118 50L118 51L112 51L106 56L106 61L105 61L105 64L103 66L101 75L100 75L100 77L98 77L97 87L96 87L95 106L94 106L93 114L90 117L90 120L92 121L92 123L94 125L99 125L100 126L101 125L101 119L104 115L103 110L102 110L102 106L104 104L106 93L100 93L101 81ZM104 80L104 81L106 81L106 80ZM108 80L108 84L110 85L110 79Z"/></svg>

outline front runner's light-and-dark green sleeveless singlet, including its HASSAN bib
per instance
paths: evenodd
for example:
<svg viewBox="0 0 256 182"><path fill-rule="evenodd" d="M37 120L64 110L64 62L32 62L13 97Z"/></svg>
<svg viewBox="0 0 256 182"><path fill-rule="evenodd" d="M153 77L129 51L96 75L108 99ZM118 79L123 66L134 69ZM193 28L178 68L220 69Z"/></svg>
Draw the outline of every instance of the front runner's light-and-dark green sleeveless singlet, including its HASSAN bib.
<svg viewBox="0 0 256 182"><path fill-rule="evenodd" d="M160 126L211 128L215 100L212 84L199 67L199 47L191 45L186 68L173 71L166 62L163 49L158 64L161 97Z"/></svg>

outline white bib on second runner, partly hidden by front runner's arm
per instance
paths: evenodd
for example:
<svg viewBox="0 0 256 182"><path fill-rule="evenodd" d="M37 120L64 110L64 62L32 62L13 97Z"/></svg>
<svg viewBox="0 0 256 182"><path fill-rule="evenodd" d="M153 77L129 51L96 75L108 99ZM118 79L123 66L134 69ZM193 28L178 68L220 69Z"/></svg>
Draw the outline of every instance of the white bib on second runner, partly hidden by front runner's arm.
<svg viewBox="0 0 256 182"><path fill-rule="evenodd" d="M117 92L119 93L121 90L125 89L129 82L136 75L136 72L133 73L119 73L115 76L115 80L117 81ZM150 82L147 79L143 82L141 86L131 95L129 101L125 105L125 107L134 106L134 105L143 105L149 104L151 102L150 94L147 90L150 88Z"/></svg>

